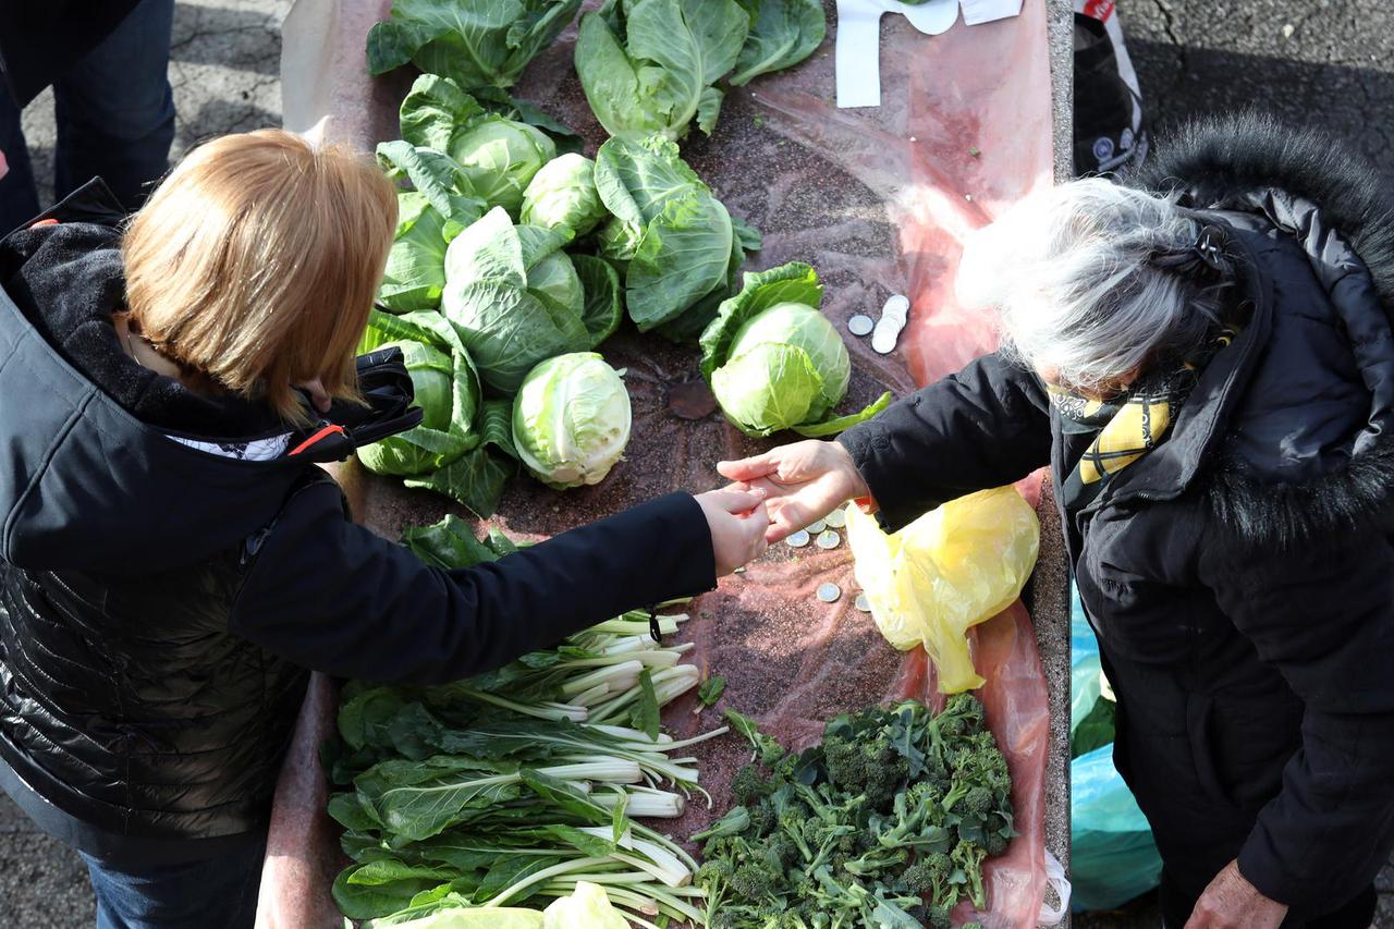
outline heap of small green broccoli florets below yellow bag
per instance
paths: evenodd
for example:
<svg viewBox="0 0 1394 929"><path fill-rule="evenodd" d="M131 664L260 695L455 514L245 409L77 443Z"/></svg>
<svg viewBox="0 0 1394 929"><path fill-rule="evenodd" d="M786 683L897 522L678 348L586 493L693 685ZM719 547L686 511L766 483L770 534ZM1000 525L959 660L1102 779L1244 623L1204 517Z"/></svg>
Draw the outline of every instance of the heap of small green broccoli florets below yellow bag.
<svg viewBox="0 0 1394 929"><path fill-rule="evenodd" d="M711 926L949 926L963 897L987 904L983 862L1012 830L1006 760L970 695L931 717L914 700L839 716L788 755L726 711L757 764L739 806L694 836Z"/></svg>

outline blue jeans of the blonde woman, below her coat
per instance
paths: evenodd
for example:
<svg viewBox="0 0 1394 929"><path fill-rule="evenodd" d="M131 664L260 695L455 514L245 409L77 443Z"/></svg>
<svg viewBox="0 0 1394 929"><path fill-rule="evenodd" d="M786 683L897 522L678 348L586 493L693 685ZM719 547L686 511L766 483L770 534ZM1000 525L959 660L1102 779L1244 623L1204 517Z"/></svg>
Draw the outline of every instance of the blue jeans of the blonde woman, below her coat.
<svg viewBox="0 0 1394 929"><path fill-rule="evenodd" d="M82 855L96 929L252 929L265 843L184 865L130 868Z"/></svg>

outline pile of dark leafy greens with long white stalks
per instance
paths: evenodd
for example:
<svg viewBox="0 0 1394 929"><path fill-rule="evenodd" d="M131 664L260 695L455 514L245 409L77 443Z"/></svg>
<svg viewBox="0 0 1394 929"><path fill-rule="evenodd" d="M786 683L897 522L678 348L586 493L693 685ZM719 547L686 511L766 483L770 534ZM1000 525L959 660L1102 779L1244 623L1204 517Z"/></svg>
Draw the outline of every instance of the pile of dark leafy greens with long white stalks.
<svg viewBox="0 0 1394 929"><path fill-rule="evenodd" d="M454 518L403 541L447 569L516 550L496 533L475 538ZM661 624L673 632L679 619ZM676 753L726 730L659 735L661 707L696 686L697 670L676 664L683 650L651 642L647 630L645 615L620 617L436 688L346 685L330 770L350 790L329 802L355 862L335 883L343 912L371 921L367 929L495 925L475 915L521 926L530 923L516 922L519 911L496 908L541 908L595 882L645 922L698 925L703 891L689 886L696 862L633 817L680 816L683 795L657 784L698 790L691 759ZM651 707L648 732L615 724L637 704ZM562 706L587 721L553 716ZM619 918L597 891L574 897L576 907L541 925L609 929Z"/></svg>

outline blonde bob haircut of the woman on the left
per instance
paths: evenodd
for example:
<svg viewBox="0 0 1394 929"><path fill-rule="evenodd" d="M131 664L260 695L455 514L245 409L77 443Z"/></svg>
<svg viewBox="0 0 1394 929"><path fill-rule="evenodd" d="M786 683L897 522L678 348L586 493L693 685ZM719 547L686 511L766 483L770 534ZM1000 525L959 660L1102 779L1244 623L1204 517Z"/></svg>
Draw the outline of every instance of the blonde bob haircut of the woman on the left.
<svg viewBox="0 0 1394 929"><path fill-rule="evenodd" d="M289 423L294 385L357 398L354 352L397 225L392 183L367 159L282 130L194 149L121 243L127 307L194 378Z"/></svg>

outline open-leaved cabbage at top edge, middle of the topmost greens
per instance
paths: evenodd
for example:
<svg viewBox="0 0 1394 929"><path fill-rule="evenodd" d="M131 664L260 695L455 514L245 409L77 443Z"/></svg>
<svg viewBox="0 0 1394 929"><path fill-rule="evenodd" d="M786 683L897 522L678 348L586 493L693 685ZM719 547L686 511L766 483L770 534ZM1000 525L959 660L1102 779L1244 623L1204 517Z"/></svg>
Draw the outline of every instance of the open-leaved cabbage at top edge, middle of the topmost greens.
<svg viewBox="0 0 1394 929"><path fill-rule="evenodd" d="M605 131L631 141L711 135L715 86L736 67L750 15L735 0L608 0L581 17L576 73Z"/></svg>

